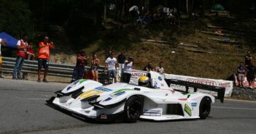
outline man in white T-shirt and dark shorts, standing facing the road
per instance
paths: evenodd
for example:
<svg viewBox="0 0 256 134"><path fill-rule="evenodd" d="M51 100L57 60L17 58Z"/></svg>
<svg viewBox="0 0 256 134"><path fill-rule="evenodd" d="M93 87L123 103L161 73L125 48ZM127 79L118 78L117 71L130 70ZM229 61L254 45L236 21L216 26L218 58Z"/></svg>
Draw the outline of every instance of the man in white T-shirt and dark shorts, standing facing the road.
<svg viewBox="0 0 256 134"><path fill-rule="evenodd" d="M105 64L105 70L104 73L106 73L106 67L107 67L107 81L110 82L110 78L114 78L115 83L117 83L117 67L115 64L117 64L117 59L115 58L115 52L111 52L111 56L106 59Z"/></svg>

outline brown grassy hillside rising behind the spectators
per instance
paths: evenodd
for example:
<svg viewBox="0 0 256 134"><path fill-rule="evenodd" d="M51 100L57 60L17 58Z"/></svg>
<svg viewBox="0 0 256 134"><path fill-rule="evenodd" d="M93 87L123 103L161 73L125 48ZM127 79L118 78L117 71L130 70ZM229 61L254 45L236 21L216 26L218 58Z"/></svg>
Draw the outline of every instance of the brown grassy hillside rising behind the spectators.
<svg viewBox="0 0 256 134"><path fill-rule="evenodd" d="M136 70L142 70L150 61L154 67L163 62L166 72L171 74L226 79L236 72L248 50L255 52L255 27L255 20L228 17L206 17L192 22L183 20L180 28L161 23L107 22L106 29L92 33L98 38L81 45L81 48L87 54L96 52L101 65L104 65L105 54L112 49L116 56L120 51L133 56ZM217 30L222 30L222 33L214 33ZM67 41L58 40L60 36L65 38L63 34L53 38L59 49L54 51L51 59L74 64L79 49L72 49Z"/></svg>

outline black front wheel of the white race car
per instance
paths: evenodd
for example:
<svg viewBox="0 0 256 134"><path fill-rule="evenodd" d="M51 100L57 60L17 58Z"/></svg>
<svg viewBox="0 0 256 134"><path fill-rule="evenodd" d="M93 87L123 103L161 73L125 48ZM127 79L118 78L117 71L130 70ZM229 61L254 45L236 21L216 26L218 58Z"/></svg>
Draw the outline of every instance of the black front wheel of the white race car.
<svg viewBox="0 0 256 134"><path fill-rule="evenodd" d="M137 122L141 115L141 98L139 96L131 96L125 102L124 121L128 123Z"/></svg>

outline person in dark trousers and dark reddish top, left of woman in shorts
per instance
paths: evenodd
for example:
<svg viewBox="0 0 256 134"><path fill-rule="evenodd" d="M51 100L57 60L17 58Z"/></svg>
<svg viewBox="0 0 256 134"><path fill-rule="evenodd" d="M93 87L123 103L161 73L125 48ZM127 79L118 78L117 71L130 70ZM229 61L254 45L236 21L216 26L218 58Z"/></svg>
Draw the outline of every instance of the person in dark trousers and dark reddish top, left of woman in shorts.
<svg viewBox="0 0 256 134"><path fill-rule="evenodd" d="M83 78L85 72L85 62L87 59L88 57L86 56L85 51L80 51L80 53L77 54L77 64L76 67L74 67L72 80L70 83Z"/></svg>

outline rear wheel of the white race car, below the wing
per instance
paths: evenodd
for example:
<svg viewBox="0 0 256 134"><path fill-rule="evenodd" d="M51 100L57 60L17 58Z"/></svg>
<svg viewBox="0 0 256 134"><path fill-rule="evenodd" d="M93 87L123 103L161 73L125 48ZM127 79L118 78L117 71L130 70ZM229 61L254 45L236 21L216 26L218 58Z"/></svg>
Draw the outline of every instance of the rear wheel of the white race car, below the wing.
<svg viewBox="0 0 256 134"><path fill-rule="evenodd" d="M205 120L211 112L212 100L209 97L203 97L199 106L199 117L201 120Z"/></svg>

